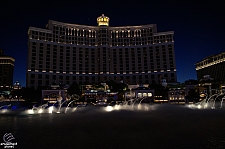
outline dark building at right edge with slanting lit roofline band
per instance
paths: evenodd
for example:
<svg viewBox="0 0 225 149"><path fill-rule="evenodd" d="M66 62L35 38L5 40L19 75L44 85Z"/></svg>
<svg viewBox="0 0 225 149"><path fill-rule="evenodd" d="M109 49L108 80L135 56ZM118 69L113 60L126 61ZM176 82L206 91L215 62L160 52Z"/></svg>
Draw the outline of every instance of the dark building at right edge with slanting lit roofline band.
<svg viewBox="0 0 225 149"><path fill-rule="evenodd" d="M225 52L204 58L195 67L198 80L210 75L214 81L225 83Z"/></svg>

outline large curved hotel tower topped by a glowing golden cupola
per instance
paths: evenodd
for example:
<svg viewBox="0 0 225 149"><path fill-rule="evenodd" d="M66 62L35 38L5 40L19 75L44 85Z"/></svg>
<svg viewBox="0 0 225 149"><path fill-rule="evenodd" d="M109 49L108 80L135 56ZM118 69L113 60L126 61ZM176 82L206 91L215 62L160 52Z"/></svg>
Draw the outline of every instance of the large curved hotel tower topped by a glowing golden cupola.
<svg viewBox="0 0 225 149"><path fill-rule="evenodd" d="M28 30L27 87L102 83L176 82L174 32L157 32L156 24L98 26L49 20L47 29Z"/></svg>

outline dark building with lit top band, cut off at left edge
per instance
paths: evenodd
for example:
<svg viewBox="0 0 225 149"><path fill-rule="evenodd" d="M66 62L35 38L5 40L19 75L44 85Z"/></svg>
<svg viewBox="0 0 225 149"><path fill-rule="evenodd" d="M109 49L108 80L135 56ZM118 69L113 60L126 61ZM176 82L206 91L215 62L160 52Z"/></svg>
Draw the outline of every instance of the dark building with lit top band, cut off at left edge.
<svg viewBox="0 0 225 149"><path fill-rule="evenodd" d="M13 85L13 71L15 59L4 55L0 49L0 91L10 91Z"/></svg>

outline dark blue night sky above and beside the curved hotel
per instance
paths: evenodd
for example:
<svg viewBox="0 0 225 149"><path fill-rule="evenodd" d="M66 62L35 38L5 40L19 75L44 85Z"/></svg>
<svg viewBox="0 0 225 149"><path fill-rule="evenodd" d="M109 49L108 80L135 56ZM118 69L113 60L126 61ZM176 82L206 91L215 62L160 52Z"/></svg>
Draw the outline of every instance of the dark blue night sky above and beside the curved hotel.
<svg viewBox="0 0 225 149"><path fill-rule="evenodd" d="M0 48L15 58L14 82L25 86L29 26L45 28L49 19L95 26L104 13L110 26L157 24L159 32L174 31L177 79L182 83L196 79L196 62L225 51L223 6L222 0L1 0Z"/></svg>

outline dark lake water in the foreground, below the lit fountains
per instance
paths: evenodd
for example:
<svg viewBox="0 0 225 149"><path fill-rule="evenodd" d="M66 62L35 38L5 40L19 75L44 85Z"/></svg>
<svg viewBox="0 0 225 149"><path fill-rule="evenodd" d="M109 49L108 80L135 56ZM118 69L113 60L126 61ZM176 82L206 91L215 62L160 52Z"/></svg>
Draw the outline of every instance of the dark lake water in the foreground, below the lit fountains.
<svg viewBox="0 0 225 149"><path fill-rule="evenodd" d="M1 114L0 143L5 133L22 149L222 149L225 109L156 105L105 112L87 106L72 113Z"/></svg>

